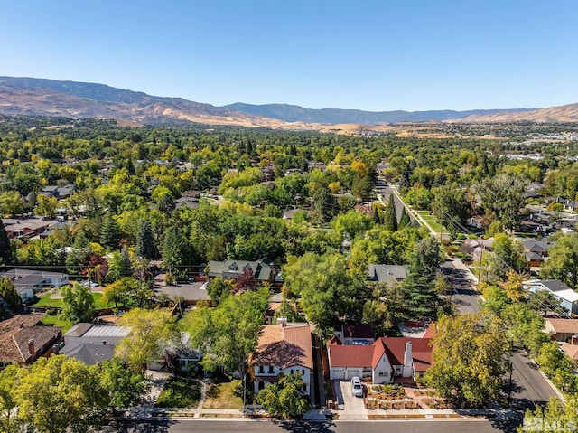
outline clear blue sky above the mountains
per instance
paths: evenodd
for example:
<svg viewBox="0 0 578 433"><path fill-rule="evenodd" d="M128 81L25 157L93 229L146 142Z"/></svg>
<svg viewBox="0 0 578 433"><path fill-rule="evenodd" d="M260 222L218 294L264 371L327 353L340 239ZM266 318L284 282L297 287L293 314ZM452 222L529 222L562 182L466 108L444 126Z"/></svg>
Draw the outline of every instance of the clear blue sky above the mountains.
<svg viewBox="0 0 578 433"><path fill-rule="evenodd" d="M578 102L575 0L0 0L0 75L213 105Z"/></svg>

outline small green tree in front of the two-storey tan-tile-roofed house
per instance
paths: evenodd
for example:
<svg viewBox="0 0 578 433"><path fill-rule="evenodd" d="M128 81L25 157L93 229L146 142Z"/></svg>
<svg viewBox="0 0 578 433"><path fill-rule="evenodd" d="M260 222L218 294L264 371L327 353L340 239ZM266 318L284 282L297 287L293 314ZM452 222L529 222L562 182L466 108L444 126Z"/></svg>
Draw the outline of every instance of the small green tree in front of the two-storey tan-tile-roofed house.
<svg viewBox="0 0 578 433"><path fill-rule="evenodd" d="M299 393L305 382L301 373L279 374L277 381L266 384L259 391L256 400L274 417L293 418L303 415L311 409L311 405Z"/></svg>

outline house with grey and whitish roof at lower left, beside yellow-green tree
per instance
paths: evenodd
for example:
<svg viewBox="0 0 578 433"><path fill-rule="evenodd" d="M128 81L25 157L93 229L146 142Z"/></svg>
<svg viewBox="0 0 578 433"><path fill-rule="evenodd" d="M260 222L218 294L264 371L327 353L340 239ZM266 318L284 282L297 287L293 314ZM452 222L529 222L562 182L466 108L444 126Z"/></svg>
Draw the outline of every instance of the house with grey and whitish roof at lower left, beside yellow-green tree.
<svg viewBox="0 0 578 433"><path fill-rule="evenodd" d="M113 358L118 342L129 332L126 326L80 323L64 334L61 353L87 365L108 361Z"/></svg>

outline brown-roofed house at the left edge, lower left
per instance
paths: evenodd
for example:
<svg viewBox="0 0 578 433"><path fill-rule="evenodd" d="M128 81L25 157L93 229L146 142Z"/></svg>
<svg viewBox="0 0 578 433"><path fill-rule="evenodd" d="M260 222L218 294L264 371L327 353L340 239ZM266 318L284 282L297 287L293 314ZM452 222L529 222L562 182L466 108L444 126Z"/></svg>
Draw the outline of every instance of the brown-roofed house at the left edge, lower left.
<svg viewBox="0 0 578 433"><path fill-rule="evenodd" d="M0 369L16 362L30 364L51 353L61 339L61 328L38 326L44 314L14 315L0 322Z"/></svg>

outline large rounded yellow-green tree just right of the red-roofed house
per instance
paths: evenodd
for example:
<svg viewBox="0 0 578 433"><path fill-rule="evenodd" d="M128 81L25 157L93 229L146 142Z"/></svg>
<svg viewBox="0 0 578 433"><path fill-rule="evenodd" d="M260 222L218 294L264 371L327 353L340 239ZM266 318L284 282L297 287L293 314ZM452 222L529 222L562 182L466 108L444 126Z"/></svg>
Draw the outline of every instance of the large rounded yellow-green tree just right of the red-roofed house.
<svg viewBox="0 0 578 433"><path fill-rule="evenodd" d="M508 371L508 335L495 315L443 316L435 325L425 380L445 399L480 407L499 398Z"/></svg>

